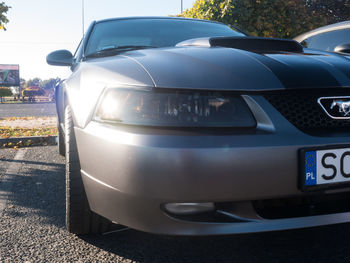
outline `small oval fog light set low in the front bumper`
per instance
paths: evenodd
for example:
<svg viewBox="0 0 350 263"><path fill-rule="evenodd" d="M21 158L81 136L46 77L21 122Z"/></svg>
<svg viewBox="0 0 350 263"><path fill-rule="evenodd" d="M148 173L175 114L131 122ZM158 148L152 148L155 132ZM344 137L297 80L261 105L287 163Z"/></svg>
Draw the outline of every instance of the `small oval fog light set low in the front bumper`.
<svg viewBox="0 0 350 263"><path fill-rule="evenodd" d="M169 203L164 208L174 215L194 215L215 211L214 203Z"/></svg>

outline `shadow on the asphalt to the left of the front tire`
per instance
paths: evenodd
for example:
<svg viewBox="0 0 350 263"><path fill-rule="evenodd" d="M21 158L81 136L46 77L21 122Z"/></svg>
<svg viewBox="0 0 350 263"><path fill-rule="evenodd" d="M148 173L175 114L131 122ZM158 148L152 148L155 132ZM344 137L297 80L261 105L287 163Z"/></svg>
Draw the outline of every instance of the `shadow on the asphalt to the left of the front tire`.
<svg viewBox="0 0 350 263"><path fill-rule="evenodd" d="M0 198L9 199L19 209L8 209L7 214L11 217L29 217L28 213L36 214L44 219L43 223L64 227L64 165L29 160L11 162L22 163L24 169L0 183L0 192L7 195ZM40 166L45 168L35 168ZM23 213L22 210L26 212Z"/></svg>

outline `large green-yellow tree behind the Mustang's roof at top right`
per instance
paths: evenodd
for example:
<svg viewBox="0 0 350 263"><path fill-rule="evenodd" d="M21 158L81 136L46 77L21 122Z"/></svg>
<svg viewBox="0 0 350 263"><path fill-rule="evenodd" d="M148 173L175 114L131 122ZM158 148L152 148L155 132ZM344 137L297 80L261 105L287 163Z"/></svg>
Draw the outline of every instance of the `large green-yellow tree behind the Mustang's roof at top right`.
<svg viewBox="0 0 350 263"><path fill-rule="evenodd" d="M350 19L350 0L197 0L179 16L223 22L254 36L292 38Z"/></svg>

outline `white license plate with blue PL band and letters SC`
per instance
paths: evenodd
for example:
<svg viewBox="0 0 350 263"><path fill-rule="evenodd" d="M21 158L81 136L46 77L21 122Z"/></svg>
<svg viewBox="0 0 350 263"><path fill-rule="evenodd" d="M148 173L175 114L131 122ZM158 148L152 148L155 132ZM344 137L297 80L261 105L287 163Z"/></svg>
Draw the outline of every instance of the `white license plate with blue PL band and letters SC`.
<svg viewBox="0 0 350 263"><path fill-rule="evenodd" d="M301 150L303 190L350 184L350 148L327 147Z"/></svg>

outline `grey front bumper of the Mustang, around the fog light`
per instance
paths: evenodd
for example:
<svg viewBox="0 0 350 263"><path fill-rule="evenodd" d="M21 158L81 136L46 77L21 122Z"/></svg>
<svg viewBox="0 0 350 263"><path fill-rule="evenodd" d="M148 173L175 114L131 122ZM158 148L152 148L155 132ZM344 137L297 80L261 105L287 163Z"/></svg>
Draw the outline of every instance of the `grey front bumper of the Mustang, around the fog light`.
<svg viewBox="0 0 350 263"><path fill-rule="evenodd" d="M257 213L254 200L306 195L298 188L299 149L346 144L349 137L306 135L264 98L246 100L258 122L252 134L132 129L96 122L76 128L91 209L135 229L173 235L247 233L349 222L350 213L344 211L282 219L266 219ZM163 204L175 202L229 202L232 205L224 212L232 215L232 220L185 220L163 211Z"/></svg>

